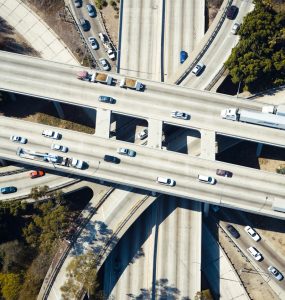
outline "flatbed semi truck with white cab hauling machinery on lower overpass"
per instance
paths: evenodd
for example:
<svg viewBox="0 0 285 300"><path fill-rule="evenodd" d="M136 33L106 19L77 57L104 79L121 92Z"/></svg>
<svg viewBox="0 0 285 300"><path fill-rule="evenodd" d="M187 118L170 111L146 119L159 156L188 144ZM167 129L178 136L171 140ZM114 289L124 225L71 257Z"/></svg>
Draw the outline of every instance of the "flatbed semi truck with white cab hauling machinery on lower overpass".
<svg viewBox="0 0 285 300"><path fill-rule="evenodd" d="M36 152L29 149L24 149L19 147L17 149L17 155L31 160L37 160L42 162L50 162L52 164L62 165L65 167L74 167L76 169L82 169L84 166L84 162L82 160L76 158L69 158L69 157L61 157L59 155L54 155L50 153L41 153Z"/></svg>

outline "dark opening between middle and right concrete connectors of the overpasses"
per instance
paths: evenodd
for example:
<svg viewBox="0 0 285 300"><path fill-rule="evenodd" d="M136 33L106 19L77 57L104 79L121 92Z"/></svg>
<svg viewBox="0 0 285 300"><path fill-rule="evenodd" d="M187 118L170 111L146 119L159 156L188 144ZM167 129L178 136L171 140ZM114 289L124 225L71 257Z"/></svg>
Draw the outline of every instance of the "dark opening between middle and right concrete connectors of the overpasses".
<svg viewBox="0 0 285 300"><path fill-rule="evenodd" d="M162 146L169 151L199 155L201 153L201 133L196 129L164 123Z"/></svg>

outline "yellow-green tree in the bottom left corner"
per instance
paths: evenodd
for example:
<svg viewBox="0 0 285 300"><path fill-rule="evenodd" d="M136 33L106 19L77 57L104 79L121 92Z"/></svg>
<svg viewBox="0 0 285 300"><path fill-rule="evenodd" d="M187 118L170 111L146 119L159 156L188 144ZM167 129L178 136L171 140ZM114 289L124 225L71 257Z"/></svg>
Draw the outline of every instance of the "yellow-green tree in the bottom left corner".
<svg viewBox="0 0 285 300"><path fill-rule="evenodd" d="M17 300L21 290L21 276L15 273L0 273L0 286L5 300Z"/></svg>

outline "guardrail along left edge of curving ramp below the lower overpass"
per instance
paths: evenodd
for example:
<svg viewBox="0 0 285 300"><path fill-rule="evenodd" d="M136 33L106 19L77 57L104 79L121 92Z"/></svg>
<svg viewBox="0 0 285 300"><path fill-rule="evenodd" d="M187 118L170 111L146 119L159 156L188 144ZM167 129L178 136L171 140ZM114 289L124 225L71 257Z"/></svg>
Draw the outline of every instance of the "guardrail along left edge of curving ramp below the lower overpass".
<svg viewBox="0 0 285 300"><path fill-rule="evenodd" d="M68 246L64 249L64 251L60 254L60 257L58 259L58 261L56 262L56 265L54 267L54 269L52 270L51 274L49 275L50 277L47 278L47 283L46 283L46 287L42 286L42 289L44 289L44 291L42 292L42 296L41 291L37 297L38 300L47 300L48 295L51 291L52 285L60 271L60 268L62 267L65 258L67 257L69 251L71 250L74 242L76 241L76 239L79 237L80 233L82 232L82 230L85 228L86 224L90 221L90 219L92 218L92 216L96 213L96 211L99 209L99 207L104 203L104 201L109 197L109 195L115 190L114 187L111 187L107 193L104 194L104 196L101 198L101 200L97 203L97 205L95 207L93 207L90 210L89 215L87 216L87 218L83 219L83 222L80 223L80 225L78 226L76 232L73 235L73 239L72 242L70 244L68 244ZM88 204L87 204L88 205ZM79 217L80 218L80 217Z"/></svg>

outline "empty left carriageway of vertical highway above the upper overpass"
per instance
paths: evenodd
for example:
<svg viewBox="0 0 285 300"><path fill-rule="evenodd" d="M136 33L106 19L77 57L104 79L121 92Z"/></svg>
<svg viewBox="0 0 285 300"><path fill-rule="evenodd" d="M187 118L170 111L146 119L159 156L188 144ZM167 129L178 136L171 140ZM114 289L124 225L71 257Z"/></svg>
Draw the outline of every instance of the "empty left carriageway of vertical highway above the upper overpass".
<svg viewBox="0 0 285 300"><path fill-rule="evenodd" d="M161 79L162 1L123 2L120 74Z"/></svg>

